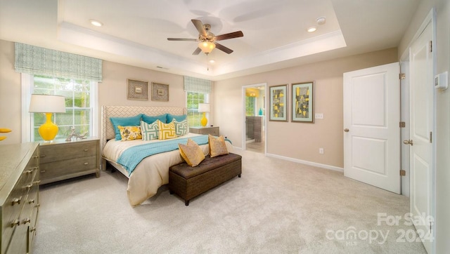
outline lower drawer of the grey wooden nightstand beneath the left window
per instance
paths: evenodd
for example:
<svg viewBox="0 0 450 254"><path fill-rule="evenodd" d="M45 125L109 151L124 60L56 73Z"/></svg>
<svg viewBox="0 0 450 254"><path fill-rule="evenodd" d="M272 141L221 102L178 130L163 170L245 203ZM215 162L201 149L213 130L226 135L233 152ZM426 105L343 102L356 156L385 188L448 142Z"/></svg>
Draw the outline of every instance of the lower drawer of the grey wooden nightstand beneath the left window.
<svg viewBox="0 0 450 254"><path fill-rule="evenodd" d="M51 163L41 163L41 181L44 182L50 178L56 178L71 173L79 173L97 168L97 156L88 156L84 158L68 159L66 161L55 161Z"/></svg>

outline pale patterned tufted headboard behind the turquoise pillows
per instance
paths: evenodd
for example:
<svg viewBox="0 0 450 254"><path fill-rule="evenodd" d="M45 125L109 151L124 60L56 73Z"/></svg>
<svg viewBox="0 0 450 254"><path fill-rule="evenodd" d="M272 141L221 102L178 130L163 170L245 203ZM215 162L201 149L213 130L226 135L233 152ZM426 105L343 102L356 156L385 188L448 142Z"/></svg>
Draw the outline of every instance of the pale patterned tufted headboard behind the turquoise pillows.
<svg viewBox="0 0 450 254"><path fill-rule="evenodd" d="M186 107L135 107L135 106L103 106L101 107L101 147L106 141L115 138L113 123L110 117L129 117L136 114L158 116L160 114L187 114Z"/></svg>

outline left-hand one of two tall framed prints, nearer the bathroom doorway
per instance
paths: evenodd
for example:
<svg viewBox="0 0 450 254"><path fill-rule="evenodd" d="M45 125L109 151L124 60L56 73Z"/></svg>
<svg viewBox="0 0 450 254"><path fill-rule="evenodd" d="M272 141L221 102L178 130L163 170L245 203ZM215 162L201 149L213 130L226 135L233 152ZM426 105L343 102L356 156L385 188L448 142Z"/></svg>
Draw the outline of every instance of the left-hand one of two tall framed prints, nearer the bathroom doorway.
<svg viewBox="0 0 450 254"><path fill-rule="evenodd" d="M288 85L270 87L269 121L288 121L286 91Z"/></svg>

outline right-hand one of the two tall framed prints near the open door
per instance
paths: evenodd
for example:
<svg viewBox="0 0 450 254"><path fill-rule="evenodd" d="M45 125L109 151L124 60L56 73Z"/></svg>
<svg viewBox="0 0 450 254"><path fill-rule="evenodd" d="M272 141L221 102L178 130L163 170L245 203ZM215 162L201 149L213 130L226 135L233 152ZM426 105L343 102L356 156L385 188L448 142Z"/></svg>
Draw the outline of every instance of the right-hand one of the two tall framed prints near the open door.
<svg viewBox="0 0 450 254"><path fill-rule="evenodd" d="M293 122L314 123L314 82L293 83Z"/></svg>

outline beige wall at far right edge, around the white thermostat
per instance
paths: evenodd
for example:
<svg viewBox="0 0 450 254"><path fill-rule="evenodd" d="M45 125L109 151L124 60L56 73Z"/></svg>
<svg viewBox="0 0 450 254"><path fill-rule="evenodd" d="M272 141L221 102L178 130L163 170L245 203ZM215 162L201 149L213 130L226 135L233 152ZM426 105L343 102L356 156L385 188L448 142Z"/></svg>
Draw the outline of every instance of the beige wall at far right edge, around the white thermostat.
<svg viewBox="0 0 450 254"><path fill-rule="evenodd" d="M450 4L448 0L423 0L409 25L399 54L407 52L414 34L432 8L436 10L437 73L450 71ZM450 89L436 93L436 253L450 253Z"/></svg>

